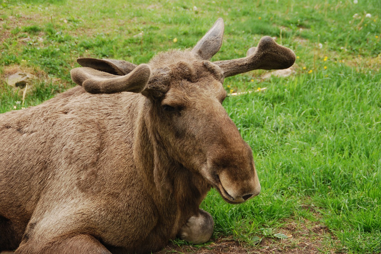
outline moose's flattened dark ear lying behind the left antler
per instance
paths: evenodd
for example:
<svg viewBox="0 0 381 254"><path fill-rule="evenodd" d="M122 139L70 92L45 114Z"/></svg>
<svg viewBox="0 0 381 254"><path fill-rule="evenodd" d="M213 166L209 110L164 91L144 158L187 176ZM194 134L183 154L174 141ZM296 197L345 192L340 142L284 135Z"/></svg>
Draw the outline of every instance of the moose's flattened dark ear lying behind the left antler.
<svg viewBox="0 0 381 254"><path fill-rule="evenodd" d="M124 60L97 58L78 58L77 63L83 67L90 67L98 71L104 71L119 76L130 73L137 66Z"/></svg>

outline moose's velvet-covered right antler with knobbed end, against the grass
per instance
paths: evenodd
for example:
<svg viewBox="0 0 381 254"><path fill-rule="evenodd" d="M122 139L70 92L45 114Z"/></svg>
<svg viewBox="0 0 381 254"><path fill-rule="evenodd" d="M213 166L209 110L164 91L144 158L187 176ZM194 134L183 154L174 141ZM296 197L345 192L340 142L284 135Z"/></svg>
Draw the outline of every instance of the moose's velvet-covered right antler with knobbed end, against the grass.
<svg viewBox="0 0 381 254"><path fill-rule="evenodd" d="M257 47L248 50L248 56L214 62L223 69L224 77L234 76L255 69L286 69L295 62L295 53L264 36Z"/></svg>

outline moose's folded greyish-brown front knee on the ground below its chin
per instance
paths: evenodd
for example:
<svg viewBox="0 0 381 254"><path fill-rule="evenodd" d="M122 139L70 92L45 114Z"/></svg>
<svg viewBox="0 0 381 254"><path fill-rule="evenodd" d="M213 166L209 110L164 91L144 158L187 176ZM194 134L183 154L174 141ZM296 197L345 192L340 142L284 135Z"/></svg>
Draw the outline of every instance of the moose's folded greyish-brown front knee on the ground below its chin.
<svg viewBox="0 0 381 254"><path fill-rule="evenodd" d="M199 244L209 241L213 234L214 221L210 213L199 209L199 214L188 219L178 236L182 240Z"/></svg>

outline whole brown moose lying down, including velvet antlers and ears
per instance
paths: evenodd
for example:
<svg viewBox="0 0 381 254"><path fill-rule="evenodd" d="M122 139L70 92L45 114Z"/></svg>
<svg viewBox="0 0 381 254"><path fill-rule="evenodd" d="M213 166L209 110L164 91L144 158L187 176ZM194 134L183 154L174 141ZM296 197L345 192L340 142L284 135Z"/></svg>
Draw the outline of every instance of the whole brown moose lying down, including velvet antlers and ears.
<svg viewBox="0 0 381 254"><path fill-rule="evenodd" d="M142 253L176 235L205 242L213 219L199 205L212 186L231 204L258 195L222 84L288 68L295 54L266 36L247 57L210 62L223 32L218 19L193 49L138 66L80 58L71 71L79 86L1 114L0 251Z"/></svg>

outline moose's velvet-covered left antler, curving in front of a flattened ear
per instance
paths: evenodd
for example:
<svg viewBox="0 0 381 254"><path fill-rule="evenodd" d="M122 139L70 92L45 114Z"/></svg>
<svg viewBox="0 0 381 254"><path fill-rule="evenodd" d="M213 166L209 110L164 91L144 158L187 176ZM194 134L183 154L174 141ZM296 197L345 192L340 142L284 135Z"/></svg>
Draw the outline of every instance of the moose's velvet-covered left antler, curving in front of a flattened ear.
<svg viewBox="0 0 381 254"><path fill-rule="evenodd" d="M74 68L70 71L72 80L89 93L140 93L146 87L151 69L146 64L137 66L131 73L117 76L89 67Z"/></svg>

